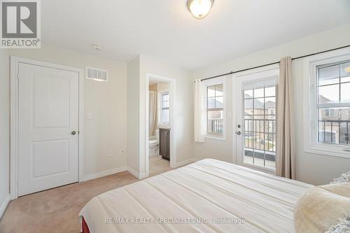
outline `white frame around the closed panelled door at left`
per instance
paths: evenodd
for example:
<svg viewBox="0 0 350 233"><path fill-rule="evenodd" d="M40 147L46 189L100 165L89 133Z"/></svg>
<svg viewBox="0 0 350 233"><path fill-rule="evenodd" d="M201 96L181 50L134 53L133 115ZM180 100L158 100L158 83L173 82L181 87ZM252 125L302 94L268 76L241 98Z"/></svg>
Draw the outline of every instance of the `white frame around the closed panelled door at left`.
<svg viewBox="0 0 350 233"><path fill-rule="evenodd" d="M24 57L10 57L10 199L18 198L18 69L20 63L45 66L49 68L73 71L79 75L79 127L78 127L78 181L83 181L83 69L40 62Z"/></svg>

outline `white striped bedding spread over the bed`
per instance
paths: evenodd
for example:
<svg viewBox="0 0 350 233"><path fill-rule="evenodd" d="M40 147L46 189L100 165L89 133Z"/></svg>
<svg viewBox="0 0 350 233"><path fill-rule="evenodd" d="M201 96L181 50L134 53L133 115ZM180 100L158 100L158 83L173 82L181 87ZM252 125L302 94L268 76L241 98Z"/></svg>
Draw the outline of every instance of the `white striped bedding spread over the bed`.
<svg viewBox="0 0 350 233"><path fill-rule="evenodd" d="M207 159L94 197L80 217L90 233L294 232L295 203L311 187Z"/></svg>

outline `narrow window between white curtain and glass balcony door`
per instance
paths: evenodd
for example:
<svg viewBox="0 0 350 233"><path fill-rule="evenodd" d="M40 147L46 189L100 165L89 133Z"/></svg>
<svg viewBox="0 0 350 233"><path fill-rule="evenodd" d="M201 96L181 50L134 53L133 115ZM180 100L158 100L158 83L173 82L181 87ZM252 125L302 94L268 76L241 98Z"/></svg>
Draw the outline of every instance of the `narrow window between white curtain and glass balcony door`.
<svg viewBox="0 0 350 233"><path fill-rule="evenodd" d="M211 137L214 139L225 139L224 80L217 79L214 81L211 80L209 82L204 82L204 87L205 87L204 106L207 109L207 115L206 115L207 137Z"/></svg>

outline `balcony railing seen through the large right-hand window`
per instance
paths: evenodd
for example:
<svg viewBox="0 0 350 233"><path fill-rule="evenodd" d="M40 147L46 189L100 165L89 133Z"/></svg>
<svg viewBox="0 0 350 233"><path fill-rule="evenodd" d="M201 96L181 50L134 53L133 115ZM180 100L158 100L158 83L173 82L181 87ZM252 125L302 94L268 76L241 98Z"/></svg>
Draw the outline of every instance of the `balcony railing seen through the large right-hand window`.
<svg viewBox="0 0 350 233"><path fill-rule="evenodd" d="M350 120L318 120L318 142L349 145Z"/></svg>

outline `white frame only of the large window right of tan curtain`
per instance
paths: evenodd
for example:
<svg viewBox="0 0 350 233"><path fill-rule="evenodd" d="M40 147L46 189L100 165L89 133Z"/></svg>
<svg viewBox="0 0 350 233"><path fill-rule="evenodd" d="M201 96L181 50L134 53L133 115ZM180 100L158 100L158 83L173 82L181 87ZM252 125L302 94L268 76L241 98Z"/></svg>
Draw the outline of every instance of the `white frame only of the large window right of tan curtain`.
<svg viewBox="0 0 350 233"><path fill-rule="evenodd" d="M350 146L318 143L316 70L317 66L349 59L349 48L304 58L304 152L350 158Z"/></svg>

